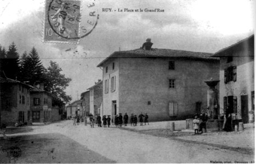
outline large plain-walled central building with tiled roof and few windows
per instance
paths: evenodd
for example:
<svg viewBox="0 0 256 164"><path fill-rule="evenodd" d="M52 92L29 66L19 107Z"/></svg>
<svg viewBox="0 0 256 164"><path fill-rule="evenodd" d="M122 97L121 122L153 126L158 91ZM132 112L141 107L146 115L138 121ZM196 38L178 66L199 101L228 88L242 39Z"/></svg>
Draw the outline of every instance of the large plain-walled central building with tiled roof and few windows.
<svg viewBox="0 0 256 164"><path fill-rule="evenodd" d="M219 58L212 55L171 49L113 52L97 66L103 68L103 115L191 118L207 108L204 81L219 80Z"/></svg>

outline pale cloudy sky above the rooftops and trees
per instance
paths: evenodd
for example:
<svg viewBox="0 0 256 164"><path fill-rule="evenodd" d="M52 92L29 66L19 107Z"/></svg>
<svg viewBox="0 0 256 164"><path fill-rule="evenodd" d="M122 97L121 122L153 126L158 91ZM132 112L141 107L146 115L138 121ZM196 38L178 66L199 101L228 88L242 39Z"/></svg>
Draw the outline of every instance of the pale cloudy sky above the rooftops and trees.
<svg viewBox="0 0 256 164"><path fill-rule="evenodd" d="M75 101L102 79L96 66L114 51L138 49L151 38L152 48L214 53L254 33L254 6L249 0L96 0L99 20L92 33L79 44L60 44L42 42L45 1L0 0L0 44L8 49L14 42L20 55L35 46L45 67L56 61L72 79L66 92Z"/></svg>

